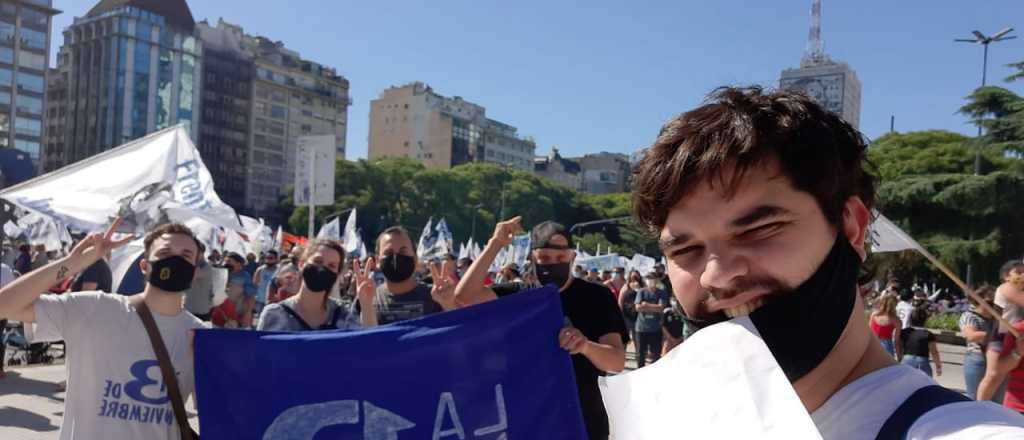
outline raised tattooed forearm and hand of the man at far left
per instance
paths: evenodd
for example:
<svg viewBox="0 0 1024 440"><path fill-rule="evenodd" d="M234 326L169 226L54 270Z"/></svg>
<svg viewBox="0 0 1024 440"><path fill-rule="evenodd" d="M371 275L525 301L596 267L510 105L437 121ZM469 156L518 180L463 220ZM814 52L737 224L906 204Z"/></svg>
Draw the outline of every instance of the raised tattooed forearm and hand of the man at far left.
<svg viewBox="0 0 1024 440"><path fill-rule="evenodd" d="M0 289L0 319L14 319L22 322L36 320L33 303L46 293L54 282L85 270L111 250L131 240L128 236L120 240L112 238L121 219L117 219L103 234L92 234L80 241L71 254L47 264L38 270L22 275L5 288Z"/></svg>

